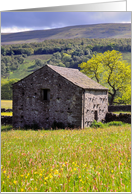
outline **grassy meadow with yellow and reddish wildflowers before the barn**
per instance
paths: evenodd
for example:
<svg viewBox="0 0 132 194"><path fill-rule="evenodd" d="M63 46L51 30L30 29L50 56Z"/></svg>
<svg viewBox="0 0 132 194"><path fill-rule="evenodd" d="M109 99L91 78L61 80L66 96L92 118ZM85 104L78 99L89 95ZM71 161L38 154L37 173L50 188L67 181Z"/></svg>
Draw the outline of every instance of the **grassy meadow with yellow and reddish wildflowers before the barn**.
<svg viewBox="0 0 132 194"><path fill-rule="evenodd" d="M54 131L3 128L2 192L131 191L129 124Z"/></svg>

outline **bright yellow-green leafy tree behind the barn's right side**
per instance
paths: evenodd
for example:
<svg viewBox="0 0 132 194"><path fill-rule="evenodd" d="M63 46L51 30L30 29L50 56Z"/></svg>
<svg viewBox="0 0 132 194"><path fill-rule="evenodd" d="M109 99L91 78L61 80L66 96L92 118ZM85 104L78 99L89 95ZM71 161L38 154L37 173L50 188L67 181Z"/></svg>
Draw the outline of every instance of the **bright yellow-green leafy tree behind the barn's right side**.
<svg viewBox="0 0 132 194"><path fill-rule="evenodd" d="M82 72L95 79L98 83L109 88L110 105L116 102L130 103L131 66L122 60L119 51L97 53L79 65ZM127 97L126 97L127 91ZM117 97L117 93L121 97Z"/></svg>

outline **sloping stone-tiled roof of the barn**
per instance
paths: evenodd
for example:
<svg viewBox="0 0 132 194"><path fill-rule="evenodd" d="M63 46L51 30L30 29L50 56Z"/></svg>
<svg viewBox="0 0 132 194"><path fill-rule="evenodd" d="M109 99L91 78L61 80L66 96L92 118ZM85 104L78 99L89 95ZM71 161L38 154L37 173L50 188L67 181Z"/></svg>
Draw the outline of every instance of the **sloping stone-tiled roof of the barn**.
<svg viewBox="0 0 132 194"><path fill-rule="evenodd" d="M47 65L61 76L72 82L73 84L83 89L94 89L94 90L108 90L104 86L100 85L96 81L90 79L85 74L81 73L78 69L59 67L54 65Z"/></svg>

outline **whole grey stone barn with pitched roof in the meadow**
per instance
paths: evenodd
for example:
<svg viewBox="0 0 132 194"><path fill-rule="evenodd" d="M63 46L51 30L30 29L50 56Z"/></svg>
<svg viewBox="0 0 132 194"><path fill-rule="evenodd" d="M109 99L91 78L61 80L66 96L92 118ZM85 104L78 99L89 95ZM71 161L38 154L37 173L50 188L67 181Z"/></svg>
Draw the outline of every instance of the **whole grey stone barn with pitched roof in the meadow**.
<svg viewBox="0 0 132 194"><path fill-rule="evenodd" d="M108 112L108 89L77 69L45 65L13 84L13 127L90 126Z"/></svg>

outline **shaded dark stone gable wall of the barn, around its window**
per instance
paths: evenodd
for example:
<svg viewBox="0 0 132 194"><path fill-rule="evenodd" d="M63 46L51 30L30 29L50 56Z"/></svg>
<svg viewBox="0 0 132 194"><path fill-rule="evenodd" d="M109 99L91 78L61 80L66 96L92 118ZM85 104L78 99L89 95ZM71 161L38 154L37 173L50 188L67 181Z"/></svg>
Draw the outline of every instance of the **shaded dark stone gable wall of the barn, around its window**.
<svg viewBox="0 0 132 194"><path fill-rule="evenodd" d="M47 89L49 99L43 99ZM13 127L81 127L82 89L45 67L13 85Z"/></svg>

